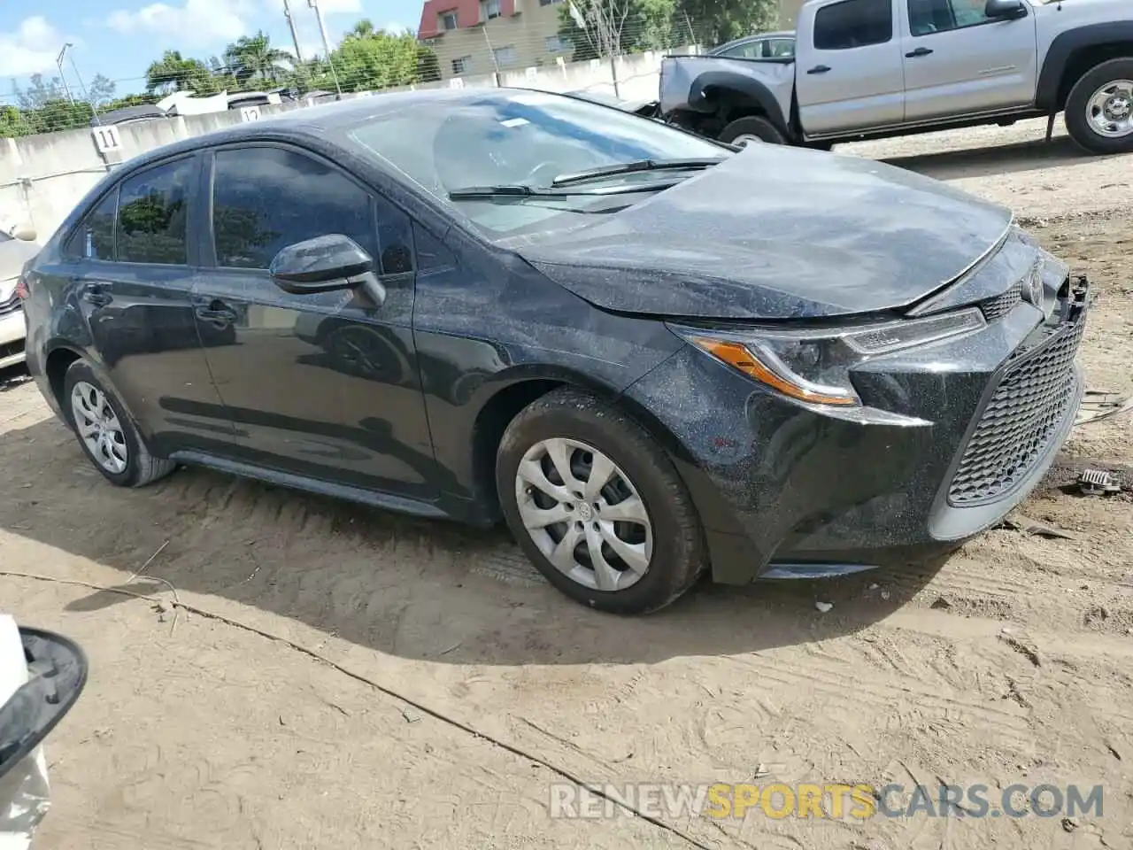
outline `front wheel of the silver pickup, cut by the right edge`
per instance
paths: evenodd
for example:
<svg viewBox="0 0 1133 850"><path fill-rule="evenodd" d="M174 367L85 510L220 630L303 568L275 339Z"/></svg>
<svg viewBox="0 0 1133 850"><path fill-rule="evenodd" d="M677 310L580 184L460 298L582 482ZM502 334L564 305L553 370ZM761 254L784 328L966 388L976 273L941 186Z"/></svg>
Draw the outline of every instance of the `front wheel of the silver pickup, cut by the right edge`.
<svg viewBox="0 0 1133 850"><path fill-rule="evenodd" d="M1102 62L1074 84L1066 129L1091 153L1133 151L1133 58Z"/></svg>

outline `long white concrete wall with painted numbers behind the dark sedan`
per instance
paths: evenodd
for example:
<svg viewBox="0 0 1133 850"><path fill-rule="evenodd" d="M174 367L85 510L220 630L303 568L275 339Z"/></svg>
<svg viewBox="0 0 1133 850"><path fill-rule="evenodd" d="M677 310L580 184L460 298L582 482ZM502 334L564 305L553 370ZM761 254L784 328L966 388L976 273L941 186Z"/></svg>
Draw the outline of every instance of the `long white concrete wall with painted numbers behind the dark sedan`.
<svg viewBox="0 0 1133 850"><path fill-rule="evenodd" d="M692 50L679 48L672 52ZM499 85L552 92L585 90L605 94L614 94L616 88L627 100L648 100L657 96L663 57L663 53L639 53L620 57L613 63L595 59L566 62L561 68L520 69L500 74ZM469 76L421 87L445 85L489 87L496 85L496 75ZM261 107L259 112L266 117L291 109L301 107ZM39 233L37 240L43 243L83 195L114 164L177 139L198 136L241 120L240 111L232 110L120 126L117 130L121 147L105 155L96 148L91 129L0 139L0 219L32 224Z"/></svg>

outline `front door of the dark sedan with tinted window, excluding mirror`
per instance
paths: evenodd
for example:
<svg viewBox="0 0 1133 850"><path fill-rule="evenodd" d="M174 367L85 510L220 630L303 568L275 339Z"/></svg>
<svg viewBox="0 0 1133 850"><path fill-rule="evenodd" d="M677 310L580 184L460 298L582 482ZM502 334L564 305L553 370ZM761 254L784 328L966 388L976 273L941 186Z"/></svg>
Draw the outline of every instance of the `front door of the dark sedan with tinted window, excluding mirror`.
<svg viewBox="0 0 1133 850"><path fill-rule="evenodd" d="M333 163L283 145L214 151L212 267L197 326L231 417L237 460L309 478L435 495L414 352L410 220ZM267 271L329 233L380 263L384 303L360 290L295 295Z"/></svg>

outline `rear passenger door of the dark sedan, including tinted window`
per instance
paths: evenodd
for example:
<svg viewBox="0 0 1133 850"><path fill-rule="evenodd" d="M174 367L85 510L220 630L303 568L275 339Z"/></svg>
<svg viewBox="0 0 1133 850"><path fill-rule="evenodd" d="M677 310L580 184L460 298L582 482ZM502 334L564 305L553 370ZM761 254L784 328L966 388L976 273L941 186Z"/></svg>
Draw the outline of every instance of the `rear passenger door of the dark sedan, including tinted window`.
<svg viewBox="0 0 1133 850"><path fill-rule="evenodd" d="M198 189L195 154L147 165L111 188L63 249L94 354L162 454L231 437L190 303Z"/></svg>

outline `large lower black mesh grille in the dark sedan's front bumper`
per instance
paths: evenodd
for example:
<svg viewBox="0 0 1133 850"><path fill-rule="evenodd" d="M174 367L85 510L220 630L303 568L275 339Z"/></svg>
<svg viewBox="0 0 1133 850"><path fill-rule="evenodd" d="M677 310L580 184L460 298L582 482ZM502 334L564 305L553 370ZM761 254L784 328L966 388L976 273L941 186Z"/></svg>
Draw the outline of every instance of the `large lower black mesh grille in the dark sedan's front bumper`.
<svg viewBox="0 0 1133 850"><path fill-rule="evenodd" d="M983 409L948 488L957 507L1007 494L1042 457L1074 396L1074 356L1084 316L1012 366Z"/></svg>

